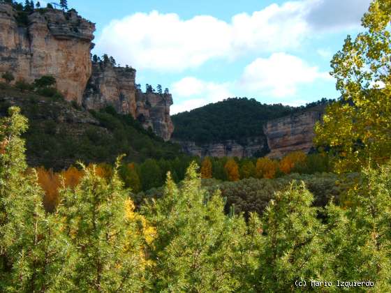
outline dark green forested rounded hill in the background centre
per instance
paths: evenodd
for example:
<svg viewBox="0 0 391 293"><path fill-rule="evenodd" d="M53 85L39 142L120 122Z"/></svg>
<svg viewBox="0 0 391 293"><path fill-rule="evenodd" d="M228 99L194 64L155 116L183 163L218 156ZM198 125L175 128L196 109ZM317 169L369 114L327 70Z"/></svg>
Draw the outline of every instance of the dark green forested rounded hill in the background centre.
<svg viewBox="0 0 391 293"><path fill-rule="evenodd" d="M175 125L172 139L206 144L235 140L246 144L247 137L263 135L268 121L312 107L322 107L332 100L323 98L302 107L267 105L251 98L228 98L190 112L172 115Z"/></svg>

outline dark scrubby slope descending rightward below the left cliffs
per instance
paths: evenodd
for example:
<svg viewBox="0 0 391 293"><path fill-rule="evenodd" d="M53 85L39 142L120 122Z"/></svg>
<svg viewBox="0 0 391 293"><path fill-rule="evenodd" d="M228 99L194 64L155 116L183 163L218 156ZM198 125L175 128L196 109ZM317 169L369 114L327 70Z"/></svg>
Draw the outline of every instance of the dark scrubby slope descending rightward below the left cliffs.
<svg viewBox="0 0 391 293"><path fill-rule="evenodd" d="M31 166L61 170L78 160L114 163L122 153L133 162L181 156L176 144L144 130L129 114L117 114L112 107L88 112L55 90L37 92L29 84L24 86L27 89L1 84L0 110L5 116L10 105L18 105L29 119L24 138Z"/></svg>

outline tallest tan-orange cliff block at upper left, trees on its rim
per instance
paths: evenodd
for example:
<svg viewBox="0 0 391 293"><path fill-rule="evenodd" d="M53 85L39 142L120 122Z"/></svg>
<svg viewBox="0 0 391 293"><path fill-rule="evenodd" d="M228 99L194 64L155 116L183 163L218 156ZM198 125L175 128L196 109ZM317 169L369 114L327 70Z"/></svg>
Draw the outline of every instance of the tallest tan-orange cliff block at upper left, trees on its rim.
<svg viewBox="0 0 391 293"><path fill-rule="evenodd" d="M27 82L52 75L67 100L81 103L91 75L94 31L75 10L35 10L23 23L10 4L0 3L0 72Z"/></svg>

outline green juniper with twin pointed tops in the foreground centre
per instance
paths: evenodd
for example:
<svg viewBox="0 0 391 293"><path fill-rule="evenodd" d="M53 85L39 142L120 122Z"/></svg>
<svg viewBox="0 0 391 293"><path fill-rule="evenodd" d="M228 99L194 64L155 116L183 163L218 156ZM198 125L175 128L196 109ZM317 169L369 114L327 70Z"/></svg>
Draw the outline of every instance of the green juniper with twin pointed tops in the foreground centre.
<svg viewBox="0 0 391 293"><path fill-rule="evenodd" d="M246 225L223 213L219 193L209 198L200 188L197 168L191 164L179 189L168 174L164 196L144 209L157 232L151 273L158 292L233 292L242 286Z"/></svg>

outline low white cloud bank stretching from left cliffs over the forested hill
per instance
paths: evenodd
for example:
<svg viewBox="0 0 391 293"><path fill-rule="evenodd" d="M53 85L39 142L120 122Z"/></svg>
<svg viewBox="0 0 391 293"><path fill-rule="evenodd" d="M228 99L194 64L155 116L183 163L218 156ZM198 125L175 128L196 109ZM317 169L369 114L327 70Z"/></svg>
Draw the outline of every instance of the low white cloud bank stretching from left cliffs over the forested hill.
<svg viewBox="0 0 391 293"><path fill-rule="evenodd" d="M299 57L274 53L269 58L258 58L244 68L239 80L207 82L195 77L184 77L171 85L174 105L172 114L192 110L234 96L274 98L275 103L300 106L308 100L297 96L297 87L316 80L333 82L327 72L309 66ZM235 94L238 93L238 94Z"/></svg>

